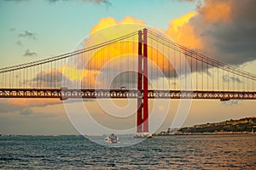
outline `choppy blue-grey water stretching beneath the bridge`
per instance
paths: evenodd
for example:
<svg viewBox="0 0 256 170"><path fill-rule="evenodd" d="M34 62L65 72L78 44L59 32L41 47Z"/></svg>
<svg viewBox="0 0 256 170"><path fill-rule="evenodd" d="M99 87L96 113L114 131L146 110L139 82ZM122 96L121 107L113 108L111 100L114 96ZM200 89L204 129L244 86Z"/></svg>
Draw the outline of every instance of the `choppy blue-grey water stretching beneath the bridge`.
<svg viewBox="0 0 256 170"><path fill-rule="evenodd" d="M256 169L256 135L154 137L125 148L82 136L2 136L0 151L1 169Z"/></svg>

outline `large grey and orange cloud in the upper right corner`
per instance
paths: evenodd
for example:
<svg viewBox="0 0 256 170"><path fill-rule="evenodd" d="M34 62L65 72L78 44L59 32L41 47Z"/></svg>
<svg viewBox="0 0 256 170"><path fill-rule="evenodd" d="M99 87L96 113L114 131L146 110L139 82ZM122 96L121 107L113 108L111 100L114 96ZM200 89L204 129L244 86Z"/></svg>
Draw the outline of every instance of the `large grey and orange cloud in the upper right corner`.
<svg viewBox="0 0 256 170"><path fill-rule="evenodd" d="M256 1L250 0L205 0L198 3L195 15L177 26L177 31L171 21L167 33L188 48L240 65L256 59L255 6ZM189 14L176 20L182 21Z"/></svg>

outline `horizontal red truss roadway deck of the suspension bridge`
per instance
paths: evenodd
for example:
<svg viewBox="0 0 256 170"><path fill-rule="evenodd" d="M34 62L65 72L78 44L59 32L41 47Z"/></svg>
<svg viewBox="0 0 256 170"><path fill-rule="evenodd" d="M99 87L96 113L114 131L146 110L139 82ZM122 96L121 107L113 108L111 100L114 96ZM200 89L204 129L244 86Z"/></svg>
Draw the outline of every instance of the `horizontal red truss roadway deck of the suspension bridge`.
<svg viewBox="0 0 256 170"><path fill-rule="evenodd" d="M0 88L0 98L137 99L136 89ZM256 92L148 90L148 99L256 99Z"/></svg>

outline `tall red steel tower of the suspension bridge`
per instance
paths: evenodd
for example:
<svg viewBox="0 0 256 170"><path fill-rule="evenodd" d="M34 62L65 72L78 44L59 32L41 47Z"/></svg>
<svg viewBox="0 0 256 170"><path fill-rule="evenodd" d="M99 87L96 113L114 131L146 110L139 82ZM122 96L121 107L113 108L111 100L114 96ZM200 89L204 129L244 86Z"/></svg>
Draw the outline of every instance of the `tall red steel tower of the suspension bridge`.
<svg viewBox="0 0 256 170"><path fill-rule="evenodd" d="M137 133L148 133L148 30L138 31Z"/></svg>

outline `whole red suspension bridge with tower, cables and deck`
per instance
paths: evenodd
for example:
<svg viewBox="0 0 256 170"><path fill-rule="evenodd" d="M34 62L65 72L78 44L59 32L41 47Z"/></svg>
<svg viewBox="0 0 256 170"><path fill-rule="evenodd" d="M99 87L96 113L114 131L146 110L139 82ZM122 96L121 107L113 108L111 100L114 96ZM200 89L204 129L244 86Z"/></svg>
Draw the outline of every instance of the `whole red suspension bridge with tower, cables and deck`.
<svg viewBox="0 0 256 170"><path fill-rule="evenodd" d="M146 28L0 69L0 98L137 99L137 132L148 132L148 99L256 99L255 87L255 74Z"/></svg>

